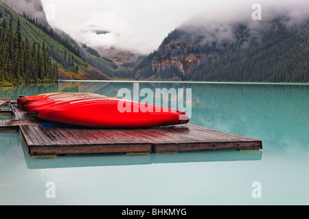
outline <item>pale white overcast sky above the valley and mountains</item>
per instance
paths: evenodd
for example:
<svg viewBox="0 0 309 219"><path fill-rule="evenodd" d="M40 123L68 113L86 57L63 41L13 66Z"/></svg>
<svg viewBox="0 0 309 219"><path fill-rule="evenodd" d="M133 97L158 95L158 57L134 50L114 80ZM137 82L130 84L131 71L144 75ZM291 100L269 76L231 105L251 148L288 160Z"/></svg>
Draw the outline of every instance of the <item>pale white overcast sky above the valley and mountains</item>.
<svg viewBox="0 0 309 219"><path fill-rule="evenodd" d="M262 18L306 8L308 0L41 0L52 27L90 46L115 46L138 53L159 47L187 21L252 20L253 3ZM97 31L97 34L95 33Z"/></svg>

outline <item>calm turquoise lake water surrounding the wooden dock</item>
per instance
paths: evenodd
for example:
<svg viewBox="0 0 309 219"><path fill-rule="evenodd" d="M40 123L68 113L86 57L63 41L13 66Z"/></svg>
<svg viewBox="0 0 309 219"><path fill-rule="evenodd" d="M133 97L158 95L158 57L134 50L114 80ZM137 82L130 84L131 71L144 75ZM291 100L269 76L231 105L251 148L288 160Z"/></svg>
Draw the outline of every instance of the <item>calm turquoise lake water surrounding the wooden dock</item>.
<svg viewBox="0 0 309 219"><path fill-rule="evenodd" d="M0 98L45 92L117 97L122 88L133 92L133 82L0 88ZM0 133L0 204L309 204L308 84L139 83L143 88L191 89L190 123L260 139L263 150L33 158L19 133Z"/></svg>

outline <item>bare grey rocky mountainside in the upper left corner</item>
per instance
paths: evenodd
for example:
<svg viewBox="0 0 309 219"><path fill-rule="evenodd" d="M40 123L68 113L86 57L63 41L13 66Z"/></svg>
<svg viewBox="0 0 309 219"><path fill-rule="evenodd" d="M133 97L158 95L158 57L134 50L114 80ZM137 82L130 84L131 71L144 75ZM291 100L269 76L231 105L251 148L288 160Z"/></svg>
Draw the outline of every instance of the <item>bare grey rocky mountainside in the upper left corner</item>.
<svg viewBox="0 0 309 219"><path fill-rule="evenodd" d="M46 27L49 27L49 23L46 18L46 14L43 10L41 0L1 0L6 5L10 6L14 11L19 14L25 14L31 18L37 19L38 23L42 23Z"/></svg>

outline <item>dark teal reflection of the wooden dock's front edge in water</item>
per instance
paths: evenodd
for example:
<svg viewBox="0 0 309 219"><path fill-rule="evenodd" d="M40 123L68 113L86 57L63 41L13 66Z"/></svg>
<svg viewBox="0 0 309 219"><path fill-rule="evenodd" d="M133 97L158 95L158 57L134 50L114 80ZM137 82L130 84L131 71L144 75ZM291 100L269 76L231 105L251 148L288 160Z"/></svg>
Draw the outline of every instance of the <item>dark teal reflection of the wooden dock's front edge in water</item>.
<svg viewBox="0 0 309 219"><path fill-rule="evenodd" d="M23 147L29 169L79 168L93 166L133 166L152 164L183 164L205 162L259 161L262 151L198 151L148 155L96 154L67 155L64 157L37 157L33 159Z"/></svg>

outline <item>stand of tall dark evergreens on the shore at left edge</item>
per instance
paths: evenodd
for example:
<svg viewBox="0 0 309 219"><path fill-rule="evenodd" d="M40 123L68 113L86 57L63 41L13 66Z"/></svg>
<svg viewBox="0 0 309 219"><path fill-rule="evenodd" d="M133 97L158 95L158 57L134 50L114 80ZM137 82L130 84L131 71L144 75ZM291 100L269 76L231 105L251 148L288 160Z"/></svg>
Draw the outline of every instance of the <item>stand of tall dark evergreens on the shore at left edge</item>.
<svg viewBox="0 0 309 219"><path fill-rule="evenodd" d="M21 23L18 20L16 31L12 20L7 27L3 20L0 27L0 81L11 83L33 83L58 79L58 66L52 64L47 54L45 42L41 44L23 39Z"/></svg>

